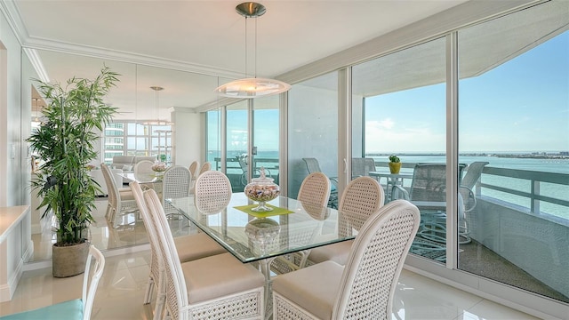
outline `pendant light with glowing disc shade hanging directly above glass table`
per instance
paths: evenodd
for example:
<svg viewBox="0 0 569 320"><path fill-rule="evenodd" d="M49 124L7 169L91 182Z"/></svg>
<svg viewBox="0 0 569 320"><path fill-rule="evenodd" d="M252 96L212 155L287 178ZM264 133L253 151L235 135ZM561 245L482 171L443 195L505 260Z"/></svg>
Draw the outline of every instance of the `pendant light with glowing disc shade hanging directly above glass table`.
<svg viewBox="0 0 569 320"><path fill-rule="evenodd" d="M230 98L259 98L286 92L290 84L275 79L257 77L257 20L255 20L255 74L247 77L247 18L258 18L267 12L262 4L246 2L236 6L236 12L245 17L245 78L223 84L215 89L220 95Z"/></svg>

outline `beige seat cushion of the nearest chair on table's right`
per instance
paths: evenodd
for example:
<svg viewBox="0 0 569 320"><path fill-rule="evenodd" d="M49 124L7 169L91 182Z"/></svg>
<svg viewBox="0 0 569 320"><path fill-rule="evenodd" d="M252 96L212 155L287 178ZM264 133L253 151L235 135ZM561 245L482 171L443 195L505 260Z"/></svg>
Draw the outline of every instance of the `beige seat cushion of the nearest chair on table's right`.
<svg viewBox="0 0 569 320"><path fill-rule="evenodd" d="M344 267L334 261L276 276L273 292L277 292L306 309L318 319L331 319L332 309Z"/></svg>

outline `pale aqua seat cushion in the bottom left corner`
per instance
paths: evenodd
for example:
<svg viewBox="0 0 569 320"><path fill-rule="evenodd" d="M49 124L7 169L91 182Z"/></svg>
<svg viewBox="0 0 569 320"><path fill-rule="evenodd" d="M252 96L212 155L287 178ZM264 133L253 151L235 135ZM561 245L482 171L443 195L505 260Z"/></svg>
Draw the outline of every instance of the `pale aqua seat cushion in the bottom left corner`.
<svg viewBox="0 0 569 320"><path fill-rule="evenodd" d="M81 299L60 302L52 306L23 311L17 314L0 316L2 320L61 320L83 319L83 301Z"/></svg>

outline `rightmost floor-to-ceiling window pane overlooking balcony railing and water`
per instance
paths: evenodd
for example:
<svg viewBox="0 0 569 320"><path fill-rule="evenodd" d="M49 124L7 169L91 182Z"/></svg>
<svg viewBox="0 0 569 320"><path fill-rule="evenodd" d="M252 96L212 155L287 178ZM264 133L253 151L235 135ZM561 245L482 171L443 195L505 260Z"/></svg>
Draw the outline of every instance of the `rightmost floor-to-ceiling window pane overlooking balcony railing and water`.
<svg viewBox="0 0 569 320"><path fill-rule="evenodd" d="M566 302L568 16L549 2L458 33L459 158L483 168L459 268Z"/></svg>

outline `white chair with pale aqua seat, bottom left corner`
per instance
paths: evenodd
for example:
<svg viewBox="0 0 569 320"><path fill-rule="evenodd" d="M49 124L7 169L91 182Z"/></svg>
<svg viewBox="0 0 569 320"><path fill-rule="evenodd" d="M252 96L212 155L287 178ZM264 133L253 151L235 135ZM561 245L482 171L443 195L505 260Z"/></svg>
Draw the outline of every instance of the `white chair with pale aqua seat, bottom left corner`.
<svg viewBox="0 0 569 320"><path fill-rule="evenodd" d="M94 262L92 258L94 257ZM0 316L2 320L60 320L60 319L91 319L92 303L99 285L100 276L105 269L105 257L95 248L89 247L83 276L83 291L81 299L68 300L44 308L36 308L8 316Z"/></svg>

